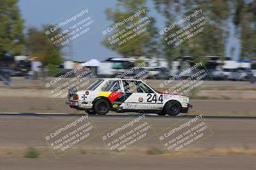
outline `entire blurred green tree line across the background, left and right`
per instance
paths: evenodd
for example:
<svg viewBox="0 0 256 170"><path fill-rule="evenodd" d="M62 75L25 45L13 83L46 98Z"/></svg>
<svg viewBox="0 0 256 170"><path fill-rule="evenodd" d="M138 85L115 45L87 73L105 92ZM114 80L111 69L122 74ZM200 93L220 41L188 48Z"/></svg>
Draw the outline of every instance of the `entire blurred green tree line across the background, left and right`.
<svg viewBox="0 0 256 170"><path fill-rule="evenodd" d="M0 59L3 59L5 55L36 56L52 72L58 71L56 66L62 62L61 47L56 47L58 52L52 48L44 29L29 28L24 34L24 20L20 17L17 2L18 0L0 1ZM159 12L165 18L166 25L170 24L170 20L177 20L177 16L182 15L184 11L200 4L209 17L214 31L207 32L204 36L193 39L187 45L170 53L166 50L158 32L152 28L152 24L156 24L156 19L148 16L147 13L143 17L147 16L152 21L152 24L147 26L149 32L122 49L112 46L111 50L115 50L124 57L160 56L168 60L172 60L173 56L184 55L225 56L225 43L230 36L227 30L227 20L231 18L241 45L241 58L256 59L256 0L150 0L150 3L152 2L155 9L150 10ZM146 6L148 12L147 3L147 0L116 0L116 6L106 9L106 17L114 23L124 20L138 6ZM102 44L110 48L106 41Z"/></svg>

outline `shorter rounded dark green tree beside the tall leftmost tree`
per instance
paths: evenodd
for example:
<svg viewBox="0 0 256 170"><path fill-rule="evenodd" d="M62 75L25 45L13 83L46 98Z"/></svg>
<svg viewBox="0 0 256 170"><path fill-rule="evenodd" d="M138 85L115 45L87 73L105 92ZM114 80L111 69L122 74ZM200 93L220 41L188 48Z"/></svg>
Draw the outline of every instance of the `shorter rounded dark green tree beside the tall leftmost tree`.
<svg viewBox="0 0 256 170"><path fill-rule="evenodd" d="M51 25L49 25L51 27ZM56 31L58 34L60 31ZM26 38L26 46L29 55L38 57L43 66L48 66L49 73L54 74L59 71L58 66L63 62L61 57L61 46L52 47L51 43L45 36L44 31L36 28L28 29L28 36ZM44 70L43 70L44 71Z"/></svg>

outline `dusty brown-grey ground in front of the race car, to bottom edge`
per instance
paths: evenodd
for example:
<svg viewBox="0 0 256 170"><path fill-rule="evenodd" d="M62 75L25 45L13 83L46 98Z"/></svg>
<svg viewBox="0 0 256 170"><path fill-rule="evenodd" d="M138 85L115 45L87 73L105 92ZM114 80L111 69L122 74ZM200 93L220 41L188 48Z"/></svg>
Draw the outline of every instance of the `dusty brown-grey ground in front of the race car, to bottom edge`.
<svg viewBox="0 0 256 170"><path fill-rule="evenodd" d="M255 153L249 150L256 149L256 119L255 118L214 118L206 117L212 136L192 146L195 149L205 150L197 155L186 153L183 156L173 157L165 155L148 155L145 153L124 153L113 159L107 151L102 152L69 152L56 160L51 152L40 155L38 159L26 159L19 153L20 148L29 146L48 148L42 134L52 127L65 122L72 115L1 115L0 116L0 164L1 169L255 169ZM99 131L111 127L130 115L91 116ZM179 122L182 117L147 116L156 131ZM150 138L136 146L138 150L154 148L159 143L158 138ZM83 148L104 148L100 137L85 143ZM10 148L8 154L4 151ZM15 151L13 151L13 148ZM217 154L207 153L209 150L231 150L232 148L246 150L241 153ZM15 154L17 152L17 154ZM191 155L192 154L192 155ZM99 163L100 162L100 163ZM131 163L132 162L132 163ZM129 165L129 168L128 168ZM154 166L153 166L154 165ZM111 167L111 168L109 168Z"/></svg>

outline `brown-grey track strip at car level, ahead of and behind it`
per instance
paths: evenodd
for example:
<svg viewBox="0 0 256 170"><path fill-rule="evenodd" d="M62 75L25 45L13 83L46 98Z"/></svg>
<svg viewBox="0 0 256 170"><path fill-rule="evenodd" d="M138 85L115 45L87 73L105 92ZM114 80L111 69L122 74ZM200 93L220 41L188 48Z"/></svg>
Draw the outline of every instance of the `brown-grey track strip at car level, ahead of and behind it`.
<svg viewBox="0 0 256 170"><path fill-rule="evenodd" d="M69 108L65 101L58 101L56 105L52 99L0 99L1 113L81 113ZM200 111L203 115L221 116L246 116L247 113L254 114L256 117L256 101L241 100L191 100L193 111ZM15 106L15 107L13 107Z"/></svg>

